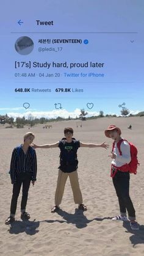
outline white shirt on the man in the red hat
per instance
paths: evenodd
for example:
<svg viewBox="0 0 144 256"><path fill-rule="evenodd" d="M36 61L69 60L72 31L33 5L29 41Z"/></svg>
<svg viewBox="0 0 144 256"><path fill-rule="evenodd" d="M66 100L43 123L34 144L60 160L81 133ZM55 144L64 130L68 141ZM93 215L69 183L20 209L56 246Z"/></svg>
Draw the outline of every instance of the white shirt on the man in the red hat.
<svg viewBox="0 0 144 256"><path fill-rule="evenodd" d="M120 145L122 155L120 156L117 143L118 142L115 142L115 147L113 148L113 153L116 155L116 158L112 160L112 164L120 167L131 162L131 152L129 143L127 141L122 141Z"/></svg>

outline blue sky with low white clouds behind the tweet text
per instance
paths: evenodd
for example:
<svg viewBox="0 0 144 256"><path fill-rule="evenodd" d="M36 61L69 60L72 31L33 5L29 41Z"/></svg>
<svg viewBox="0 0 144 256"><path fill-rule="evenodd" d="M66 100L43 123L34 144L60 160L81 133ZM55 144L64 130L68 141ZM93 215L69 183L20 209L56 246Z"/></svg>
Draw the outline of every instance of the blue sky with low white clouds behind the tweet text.
<svg viewBox="0 0 144 256"><path fill-rule="evenodd" d="M88 115L101 110L120 114L123 103L131 113L143 111L143 1L32 0L24 1L22 8L15 0L9 5L3 2L2 7L0 114L76 117L81 108ZM36 20L53 21L53 25L37 26ZM16 40L23 36L34 42L28 55L15 50ZM40 39L51 43L38 43ZM81 43L52 44L52 39L79 39ZM18 62L31 64L31 68L19 68ZM32 67L34 62L51 66ZM68 67L52 67L52 62L67 62ZM91 67L92 63L103 67ZM71 64L88 67L70 68ZM30 92L15 92L19 88ZM57 93L57 88L71 92ZM29 103L29 108L24 108L24 103ZM62 109L58 109L60 104Z"/></svg>

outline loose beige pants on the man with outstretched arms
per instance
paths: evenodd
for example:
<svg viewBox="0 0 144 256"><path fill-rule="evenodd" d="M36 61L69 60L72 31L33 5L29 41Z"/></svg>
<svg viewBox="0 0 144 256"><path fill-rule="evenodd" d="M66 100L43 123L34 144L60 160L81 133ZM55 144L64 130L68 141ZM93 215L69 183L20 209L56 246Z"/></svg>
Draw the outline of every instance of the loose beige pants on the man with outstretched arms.
<svg viewBox="0 0 144 256"><path fill-rule="evenodd" d="M74 170L74 172L62 172L62 170L59 170L59 175L57 179L57 188L56 188L56 194L55 194L55 205L59 206L62 202L63 192L65 189L65 183L67 181L67 178L70 178L71 188L73 191L73 199L74 203L82 203L82 193L81 189L79 188L79 179L77 175L77 170Z"/></svg>

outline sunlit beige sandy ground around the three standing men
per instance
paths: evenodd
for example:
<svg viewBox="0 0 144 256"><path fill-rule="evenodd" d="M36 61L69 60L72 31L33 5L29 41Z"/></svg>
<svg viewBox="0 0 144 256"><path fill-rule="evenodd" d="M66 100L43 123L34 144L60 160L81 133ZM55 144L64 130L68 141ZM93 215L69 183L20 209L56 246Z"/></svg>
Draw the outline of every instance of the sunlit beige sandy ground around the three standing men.
<svg viewBox="0 0 144 256"><path fill-rule="evenodd" d="M82 124L82 127L80 125ZM140 167L137 175L131 175L131 199L134 203L139 231L132 231L129 222L114 222L119 214L118 200L110 178L110 158L112 141L104 136L108 125L115 124L122 130L122 136L132 141L139 150ZM132 125L132 130L128 129ZM78 127L76 127L78 125ZM20 201L16 211L16 221L7 226L12 185L8 174L13 147L23 142L23 135L35 133L35 144L50 144L63 137L63 129L71 126L74 137L82 142L108 142L109 150L103 148L79 148L79 183L88 210L77 210L73 202L70 181L60 205L61 210L52 214L54 193L59 166L59 148L37 149L38 174L34 187L29 189L27 211L29 221L20 219ZM0 207L0 254L1 255L87 255L87 256L131 256L144 255L144 186L143 186L143 117L102 118L86 122L52 123L52 128L43 129L37 125L31 130L5 129L0 125L1 141L1 207Z"/></svg>

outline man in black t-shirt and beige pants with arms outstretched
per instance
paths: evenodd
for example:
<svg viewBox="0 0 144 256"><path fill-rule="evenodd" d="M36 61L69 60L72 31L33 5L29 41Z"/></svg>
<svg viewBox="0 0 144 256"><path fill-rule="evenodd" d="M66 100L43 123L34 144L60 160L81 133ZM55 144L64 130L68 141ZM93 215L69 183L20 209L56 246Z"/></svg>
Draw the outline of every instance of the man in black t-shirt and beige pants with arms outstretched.
<svg viewBox="0 0 144 256"><path fill-rule="evenodd" d="M62 202L63 192L67 178L70 178L71 188L73 191L74 203L79 205L79 210L86 211L87 207L83 204L81 189L79 188L79 180L77 174L77 150L79 147L109 147L105 142L103 144L85 144L76 141L73 138L73 128L65 128L65 138L54 144L35 145L34 148L60 148L60 166L59 175L57 179L57 188L55 193L55 205L51 209L51 213L59 210L59 205Z"/></svg>

